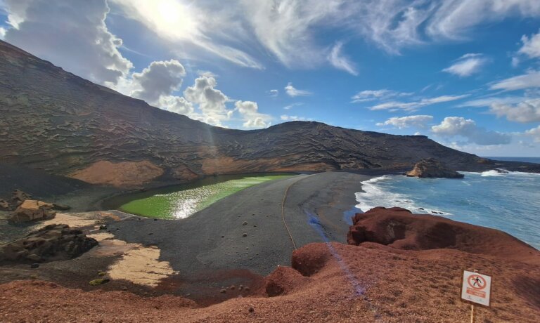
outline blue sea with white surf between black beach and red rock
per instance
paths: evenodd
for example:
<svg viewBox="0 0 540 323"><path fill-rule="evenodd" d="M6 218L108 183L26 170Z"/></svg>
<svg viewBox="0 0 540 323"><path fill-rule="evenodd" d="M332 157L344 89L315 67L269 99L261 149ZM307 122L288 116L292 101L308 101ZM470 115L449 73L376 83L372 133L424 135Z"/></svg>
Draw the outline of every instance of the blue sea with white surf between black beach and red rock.
<svg viewBox="0 0 540 323"><path fill-rule="evenodd" d="M400 206L413 213L433 211L508 232L540 249L540 174L461 173L465 178L372 178L362 183L365 192L356 193L356 207L362 211L375 206Z"/></svg>

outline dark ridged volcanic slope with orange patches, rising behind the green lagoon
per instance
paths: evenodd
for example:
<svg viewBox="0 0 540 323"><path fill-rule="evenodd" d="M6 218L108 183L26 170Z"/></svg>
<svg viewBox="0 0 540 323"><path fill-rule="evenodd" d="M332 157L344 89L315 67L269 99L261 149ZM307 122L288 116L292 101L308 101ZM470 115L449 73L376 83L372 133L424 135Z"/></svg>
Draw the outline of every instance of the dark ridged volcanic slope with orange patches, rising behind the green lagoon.
<svg viewBox="0 0 540 323"><path fill-rule="evenodd" d="M93 84L0 41L2 163L129 186L212 173L402 169L426 157L461 170L489 168L479 157L425 136L316 122L257 131L209 126Z"/></svg>

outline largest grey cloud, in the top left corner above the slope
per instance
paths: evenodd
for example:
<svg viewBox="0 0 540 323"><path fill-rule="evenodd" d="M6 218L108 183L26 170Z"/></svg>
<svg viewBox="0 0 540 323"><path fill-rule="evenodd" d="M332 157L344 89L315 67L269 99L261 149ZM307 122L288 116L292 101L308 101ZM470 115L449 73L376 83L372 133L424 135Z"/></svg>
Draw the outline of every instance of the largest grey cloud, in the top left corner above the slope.
<svg viewBox="0 0 540 323"><path fill-rule="evenodd" d="M117 84L133 65L108 31L105 0L5 0L4 39L39 58L99 84Z"/></svg>

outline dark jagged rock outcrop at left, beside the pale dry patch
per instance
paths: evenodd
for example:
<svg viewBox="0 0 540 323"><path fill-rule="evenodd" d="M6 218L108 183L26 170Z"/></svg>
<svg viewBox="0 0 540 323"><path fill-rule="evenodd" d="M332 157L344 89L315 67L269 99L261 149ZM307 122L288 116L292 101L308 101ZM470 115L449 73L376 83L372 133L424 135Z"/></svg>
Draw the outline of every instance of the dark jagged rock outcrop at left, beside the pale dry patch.
<svg viewBox="0 0 540 323"><path fill-rule="evenodd" d="M96 246L96 239L68 225L47 225L0 249L0 262L44 263L68 260Z"/></svg>

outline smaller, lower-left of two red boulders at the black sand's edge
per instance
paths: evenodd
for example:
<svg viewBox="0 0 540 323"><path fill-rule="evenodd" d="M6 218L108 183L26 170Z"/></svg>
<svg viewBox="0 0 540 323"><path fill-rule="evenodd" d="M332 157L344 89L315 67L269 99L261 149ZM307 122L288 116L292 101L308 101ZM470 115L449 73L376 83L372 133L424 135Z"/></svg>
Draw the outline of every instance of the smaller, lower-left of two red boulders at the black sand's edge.
<svg viewBox="0 0 540 323"><path fill-rule="evenodd" d="M308 277L302 276L293 268L279 266L266 277L266 294L270 297L287 295L290 291L298 289L302 284L309 282Z"/></svg>

